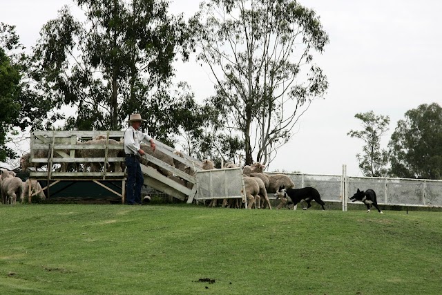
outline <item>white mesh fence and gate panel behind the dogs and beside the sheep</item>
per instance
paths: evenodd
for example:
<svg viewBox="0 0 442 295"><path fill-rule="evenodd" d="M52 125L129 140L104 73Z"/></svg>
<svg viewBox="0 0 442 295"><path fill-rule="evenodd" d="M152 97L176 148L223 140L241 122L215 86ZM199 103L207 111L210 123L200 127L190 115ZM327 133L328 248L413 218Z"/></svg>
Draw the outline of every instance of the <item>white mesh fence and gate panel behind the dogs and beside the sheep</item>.
<svg viewBox="0 0 442 295"><path fill-rule="evenodd" d="M442 180L347 177L345 172L343 175L266 174L287 175L295 188L314 187L325 202L343 202L343 210L347 209L347 202L357 189L373 189L379 204L442 207ZM243 198L242 170L239 168L197 171L197 184L197 200ZM273 193L269 194L269 198L273 198Z"/></svg>

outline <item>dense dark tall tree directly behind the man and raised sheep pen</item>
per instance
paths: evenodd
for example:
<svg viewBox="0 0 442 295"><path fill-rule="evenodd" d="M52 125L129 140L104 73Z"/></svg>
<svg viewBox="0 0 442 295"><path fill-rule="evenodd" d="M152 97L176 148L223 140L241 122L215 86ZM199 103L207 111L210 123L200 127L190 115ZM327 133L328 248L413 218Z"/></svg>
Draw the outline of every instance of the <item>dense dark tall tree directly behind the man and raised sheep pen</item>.
<svg viewBox="0 0 442 295"><path fill-rule="evenodd" d="M189 57L182 16L164 0L75 0L86 21L68 7L41 30L34 77L57 106L77 106L65 129L118 130L130 113L142 113L158 138L174 126L168 88L177 54ZM169 120L169 121L168 121Z"/></svg>

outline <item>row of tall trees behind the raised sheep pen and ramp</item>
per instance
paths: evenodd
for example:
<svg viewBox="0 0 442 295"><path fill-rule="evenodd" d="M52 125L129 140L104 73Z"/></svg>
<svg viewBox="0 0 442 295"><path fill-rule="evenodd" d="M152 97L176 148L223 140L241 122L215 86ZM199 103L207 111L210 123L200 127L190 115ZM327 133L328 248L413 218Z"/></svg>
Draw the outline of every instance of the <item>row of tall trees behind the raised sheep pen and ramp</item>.
<svg viewBox="0 0 442 295"><path fill-rule="evenodd" d="M65 130L120 130L141 113L153 137L196 158L266 164L327 91L314 53L329 39L298 1L208 0L188 20L166 0L73 2L84 20L64 6L30 55L1 24L0 160L17 156L6 148L11 132L55 129L57 120ZM203 102L172 82L174 61L192 55L216 77Z"/></svg>

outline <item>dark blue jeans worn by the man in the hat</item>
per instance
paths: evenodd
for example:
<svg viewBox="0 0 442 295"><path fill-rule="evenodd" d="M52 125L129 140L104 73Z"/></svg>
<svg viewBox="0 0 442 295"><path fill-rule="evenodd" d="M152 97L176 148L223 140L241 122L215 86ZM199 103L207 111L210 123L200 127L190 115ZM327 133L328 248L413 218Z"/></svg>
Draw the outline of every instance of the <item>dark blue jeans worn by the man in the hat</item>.
<svg viewBox="0 0 442 295"><path fill-rule="evenodd" d="M141 187L144 182L141 173L140 160L137 157L126 157L127 184L126 202L128 204L141 204Z"/></svg>

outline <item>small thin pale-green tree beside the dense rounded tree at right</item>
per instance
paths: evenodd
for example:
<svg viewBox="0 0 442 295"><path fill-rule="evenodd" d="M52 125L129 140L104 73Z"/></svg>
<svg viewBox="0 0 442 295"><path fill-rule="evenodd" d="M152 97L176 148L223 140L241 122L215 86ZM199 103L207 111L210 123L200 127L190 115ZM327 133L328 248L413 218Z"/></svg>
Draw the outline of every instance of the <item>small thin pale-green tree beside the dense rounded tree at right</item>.
<svg viewBox="0 0 442 295"><path fill-rule="evenodd" d="M362 121L363 130L351 130L347 135L359 138L365 143L363 153L356 155L359 168L364 176L387 176L388 153L381 149L381 137L388 131L390 117L375 115L373 111L357 113L354 117Z"/></svg>

